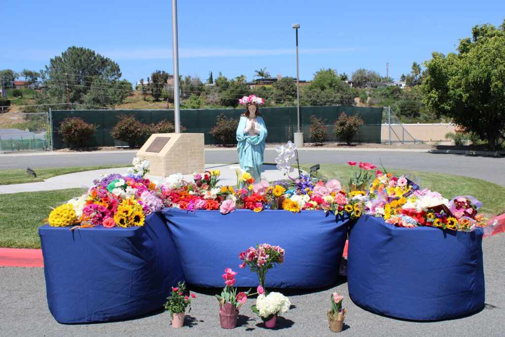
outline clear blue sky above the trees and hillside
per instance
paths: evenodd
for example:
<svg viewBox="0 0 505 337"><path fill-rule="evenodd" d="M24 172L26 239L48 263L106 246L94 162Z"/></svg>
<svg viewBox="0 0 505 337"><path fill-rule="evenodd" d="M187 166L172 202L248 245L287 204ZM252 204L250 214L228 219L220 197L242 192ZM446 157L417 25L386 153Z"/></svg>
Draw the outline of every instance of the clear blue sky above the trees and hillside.
<svg viewBox="0 0 505 337"><path fill-rule="evenodd" d="M320 68L349 76L359 68L398 79L434 51L453 52L476 24L498 26L504 1L178 1L179 74L202 81L267 67L300 79ZM24 1L2 3L0 69L44 69L69 46L117 62L136 82L173 73L171 1Z"/></svg>

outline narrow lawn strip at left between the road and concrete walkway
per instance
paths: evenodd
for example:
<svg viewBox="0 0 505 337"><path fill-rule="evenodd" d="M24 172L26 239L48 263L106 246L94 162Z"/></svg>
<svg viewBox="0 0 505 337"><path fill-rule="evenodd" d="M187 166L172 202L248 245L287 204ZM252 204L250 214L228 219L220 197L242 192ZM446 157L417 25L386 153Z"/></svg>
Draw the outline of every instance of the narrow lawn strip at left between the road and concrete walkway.
<svg viewBox="0 0 505 337"><path fill-rule="evenodd" d="M96 166L71 166L71 167L31 167L37 174L28 176L26 169L0 170L0 185L22 184L25 182L44 181L57 175L76 173L82 171L101 170L115 167L128 167L132 165L96 165Z"/></svg>

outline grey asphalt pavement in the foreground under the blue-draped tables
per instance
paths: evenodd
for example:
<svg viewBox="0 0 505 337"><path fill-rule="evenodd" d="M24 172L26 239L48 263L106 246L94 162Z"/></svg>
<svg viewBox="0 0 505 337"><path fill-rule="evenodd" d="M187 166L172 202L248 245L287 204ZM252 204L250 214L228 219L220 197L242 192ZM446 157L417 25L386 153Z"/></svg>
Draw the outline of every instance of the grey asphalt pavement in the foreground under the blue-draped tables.
<svg viewBox="0 0 505 337"><path fill-rule="evenodd" d="M347 308L343 336L502 336L505 330L505 235L484 238L485 307L465 317L430 322L394 319L366 311L349 300L346 278L327 288L306 291L281 290L292 308L278 319L276 329L264 323L250 309L254 299L247 299L240 309L238 325L225 330L219 325L217 288L191 289L196 293L185 326L170 326L170 314L161 309L130 320L60 324L47 308L43 268L0 267L0 336L154 336L154 335L334 335L328 327L326 311L330 294L344 296ZM282 268L280 266L279 268ZM239 270L239 274L240 271ZM238 277L237 276L237 277ZM268 277L268 276L267 276ZM78 287L83 280L69 280L68 287ZM85 280L84 280L85 281ZM401 286L409 286L402 284ZM409 308L405 308L409 310Z"/></svg>

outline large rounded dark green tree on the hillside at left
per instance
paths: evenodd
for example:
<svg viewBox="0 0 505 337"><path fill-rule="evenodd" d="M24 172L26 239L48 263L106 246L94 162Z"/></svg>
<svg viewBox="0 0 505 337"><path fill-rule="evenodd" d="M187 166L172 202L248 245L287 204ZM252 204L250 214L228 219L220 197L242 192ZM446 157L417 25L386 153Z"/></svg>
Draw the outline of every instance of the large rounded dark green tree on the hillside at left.
<svg viewBox="0 0 505 337"><path fill-rule="evenodd" d="M71 103L85 104L93 82L95 87L99 83L99 87L106 88L107 95L119 94L115 87L121 78L119 65L84 47L69 47L61 56L49 60L40 73L44 85L49 87L44 103L66 103L68 88Z"/></svg>

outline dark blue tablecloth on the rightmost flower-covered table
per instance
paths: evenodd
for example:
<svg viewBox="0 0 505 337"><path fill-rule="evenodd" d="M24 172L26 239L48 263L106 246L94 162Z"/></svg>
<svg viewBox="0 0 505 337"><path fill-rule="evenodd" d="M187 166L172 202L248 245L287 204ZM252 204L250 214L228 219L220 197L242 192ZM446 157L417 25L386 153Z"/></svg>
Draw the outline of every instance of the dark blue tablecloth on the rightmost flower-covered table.
<svg viewBox="0 0 505 337"><path fill-rule="evenodd" d="M482 234L400 228L363 216L349 233L349 296L373 312L413 320L479 310L485 295Z"/></svg>

